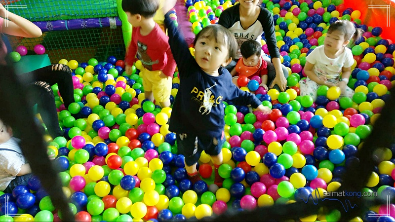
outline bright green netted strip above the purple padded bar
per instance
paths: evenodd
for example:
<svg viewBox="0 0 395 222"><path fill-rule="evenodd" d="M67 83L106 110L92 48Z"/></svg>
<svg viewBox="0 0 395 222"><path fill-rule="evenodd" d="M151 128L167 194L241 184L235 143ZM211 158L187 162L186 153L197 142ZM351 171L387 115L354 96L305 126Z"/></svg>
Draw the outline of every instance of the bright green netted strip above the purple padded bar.
<svg viewBox="0 0 395 222"><path fill-rule="evenodd" d="M118 16L116 0L6 0L4 6L32 22Z"/></svg>

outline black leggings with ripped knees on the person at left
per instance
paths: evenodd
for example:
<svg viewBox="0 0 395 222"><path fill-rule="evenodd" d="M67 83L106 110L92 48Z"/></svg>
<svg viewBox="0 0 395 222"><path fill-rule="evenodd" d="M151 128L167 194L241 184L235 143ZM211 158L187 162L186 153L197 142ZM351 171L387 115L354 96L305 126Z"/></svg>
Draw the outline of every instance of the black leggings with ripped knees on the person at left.
<svg viewBox="0 0 395 222"><path fill-rule="evenodd" d="M74 86L71 70L63 64L55 64L20 75L27 85L29 98L38 104L42 121L52 138L63 136L59 126L56 104L51 85L58 83L66 109L74 103Z"/></svg>

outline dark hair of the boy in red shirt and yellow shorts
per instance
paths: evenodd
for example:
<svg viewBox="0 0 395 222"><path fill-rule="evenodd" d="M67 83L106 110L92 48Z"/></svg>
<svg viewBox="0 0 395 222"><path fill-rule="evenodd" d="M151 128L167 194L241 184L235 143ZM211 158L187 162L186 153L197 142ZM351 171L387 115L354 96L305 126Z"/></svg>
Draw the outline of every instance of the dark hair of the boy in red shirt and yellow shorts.
<svg viewBox="0 0 395 222"><path fill-rule="evenodd" d="M159 0L122 0L122 9L130 14L152 18L159 9Z"/></svg>

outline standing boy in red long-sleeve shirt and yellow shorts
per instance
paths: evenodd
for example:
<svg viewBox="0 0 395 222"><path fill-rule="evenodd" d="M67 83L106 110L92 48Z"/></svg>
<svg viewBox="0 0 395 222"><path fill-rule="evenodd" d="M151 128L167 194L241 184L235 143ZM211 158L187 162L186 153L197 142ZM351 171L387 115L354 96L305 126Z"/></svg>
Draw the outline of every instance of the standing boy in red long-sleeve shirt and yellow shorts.
<svg viewBox="0 0 395 222"><path fill-rule="evenodd" d="M122 0L122 9L132 25L132 41L125 57L125 71L140 59L146 99L170 107L170 93L176 63L168 43L168 37L154 21L159 0Z"/></svg>

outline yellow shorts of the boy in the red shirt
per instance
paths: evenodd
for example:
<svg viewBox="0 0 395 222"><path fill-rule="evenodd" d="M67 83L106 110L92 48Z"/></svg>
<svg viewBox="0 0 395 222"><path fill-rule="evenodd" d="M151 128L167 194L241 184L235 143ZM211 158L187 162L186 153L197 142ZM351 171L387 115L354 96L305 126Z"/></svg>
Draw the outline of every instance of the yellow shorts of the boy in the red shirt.
<svg viewBox="0 0 395 222"><path fill-rule="evenodd" d="M167 101L170 98L173 79L161 78L162 71L149 71L143 68L141 72L144 91L153 92L154 99L159 103Z"/></svg>

